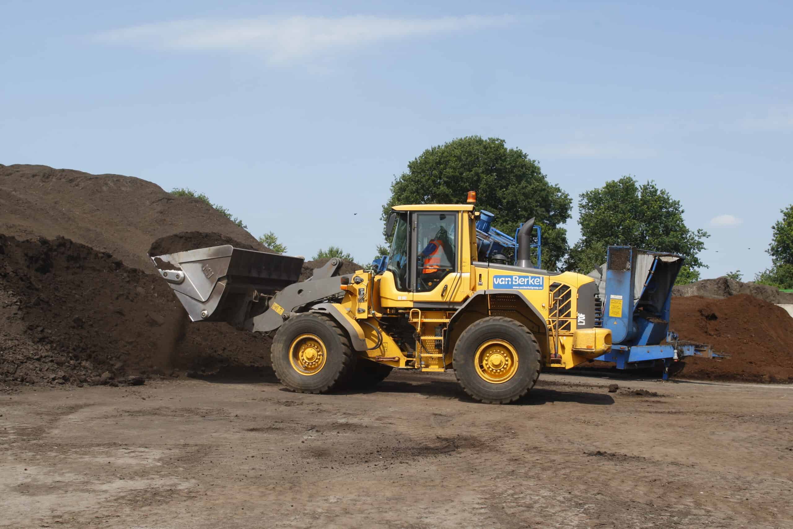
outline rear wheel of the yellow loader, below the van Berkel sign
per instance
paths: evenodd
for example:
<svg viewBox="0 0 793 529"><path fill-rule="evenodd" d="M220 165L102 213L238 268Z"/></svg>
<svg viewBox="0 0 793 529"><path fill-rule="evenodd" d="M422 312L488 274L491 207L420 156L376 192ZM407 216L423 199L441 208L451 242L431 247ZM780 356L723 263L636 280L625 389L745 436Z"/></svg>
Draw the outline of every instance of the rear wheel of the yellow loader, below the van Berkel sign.
<svg viewBox="0 0 793 529"><path fill-rule="evenodd" d="M525 325L491 316L462 332L452 365L465 393L487 404L507 404L534 387L540 374L540 348Z"/></svg>

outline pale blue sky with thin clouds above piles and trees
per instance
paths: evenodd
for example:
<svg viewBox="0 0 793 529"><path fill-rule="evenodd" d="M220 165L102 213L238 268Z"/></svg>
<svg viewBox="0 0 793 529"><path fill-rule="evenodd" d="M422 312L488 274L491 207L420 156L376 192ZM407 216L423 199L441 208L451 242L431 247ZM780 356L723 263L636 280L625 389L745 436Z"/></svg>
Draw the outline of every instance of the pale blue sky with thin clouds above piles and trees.
<svg viewBox="0 0 793 529"><path fill-rule="evenodd" d="M496 136L576 201L655 180L711 233L703 277L751 278L793 202L791 19L793 2L5 0L0 163L189 186L290 254L366 262L408 160Z"/></svg>

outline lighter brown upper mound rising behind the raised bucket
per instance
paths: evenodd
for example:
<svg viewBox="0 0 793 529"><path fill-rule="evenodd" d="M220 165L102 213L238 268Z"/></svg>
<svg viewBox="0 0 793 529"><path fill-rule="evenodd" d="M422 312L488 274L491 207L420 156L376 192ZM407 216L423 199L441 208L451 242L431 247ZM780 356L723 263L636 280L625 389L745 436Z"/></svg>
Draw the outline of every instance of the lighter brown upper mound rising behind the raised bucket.
<svg viewBox="0 0 793 529"><path fill-rule="evenodd" d="M140 178L0 164L0 233L7 236L67 237L153 274L146 255L151 241L187 231L218 233L265 250L203 201L174 197Z"/></svg>

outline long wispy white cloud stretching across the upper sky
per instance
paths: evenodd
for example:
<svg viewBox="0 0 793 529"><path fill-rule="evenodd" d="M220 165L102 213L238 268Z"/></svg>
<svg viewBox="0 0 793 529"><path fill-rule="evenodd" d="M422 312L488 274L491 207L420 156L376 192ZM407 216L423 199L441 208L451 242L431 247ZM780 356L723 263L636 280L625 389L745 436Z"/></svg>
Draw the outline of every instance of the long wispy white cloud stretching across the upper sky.
<svg viewBox="0 0 793 529"><path fill-rule="evenodd" d="M186 20L112 29L95 36L107 44L169 50L261 52L271 63L362 47L382 40L455 33L509 24L511 18L350 17Z"/></svg>

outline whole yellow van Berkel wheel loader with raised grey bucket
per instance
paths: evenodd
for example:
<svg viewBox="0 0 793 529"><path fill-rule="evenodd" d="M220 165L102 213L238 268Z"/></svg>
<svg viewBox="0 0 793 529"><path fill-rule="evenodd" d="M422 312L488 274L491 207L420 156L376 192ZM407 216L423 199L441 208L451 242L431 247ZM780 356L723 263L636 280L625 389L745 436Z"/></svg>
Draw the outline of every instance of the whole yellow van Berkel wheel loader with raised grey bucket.
<svg viewBox="0 0 793 529"><path fill-rule="evenodd" d="M478 217L473 203L396 206L381 270L339 275L343 263L331 259L304 282L302 258L228 245L151 259L190 320L275 332L272 366L293 391L374 385L393 369L454 370L465 393L504 404L545 366L611 351L611 331L599 326L592 278L534 267L532 221L514 264L488 263Z"/></svg>

